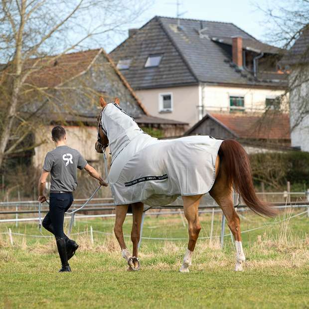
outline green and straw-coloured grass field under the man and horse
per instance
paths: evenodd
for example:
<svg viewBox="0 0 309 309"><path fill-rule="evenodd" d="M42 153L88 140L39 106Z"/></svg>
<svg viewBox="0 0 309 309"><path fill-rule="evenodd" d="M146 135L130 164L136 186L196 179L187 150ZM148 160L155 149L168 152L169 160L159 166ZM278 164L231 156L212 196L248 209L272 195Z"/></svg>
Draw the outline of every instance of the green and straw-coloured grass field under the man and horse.
<svg viewBox="0 0 309 309"><path fill-rule="evenodd" d="M303 210L282 213L277 222ZM244 212L241 229L274 223ZM82 219L85 220L85 219ZM210 233L211 215L200 217L201 237ZM15 223L14 223L15 224ZM0 232L40 235L37 224L1 225ZM213 235L220 234L221 217L215 214ZM198 241L190 273L178 273L187 238L179 216L146 216L140 250L142 270L126 272L113 220L76 221L72 238L80 244L70 260L72 273L58 273L60 260L52 238L0 235L0 308L309 308L309 218L297 216L278 224L243 233L247 261L235 273L236 254L231 237ZM132 219L124 224L130 235ZM48 232L43 232L49 235ZM226 225L225 234L229 234ZM126 238L129 249L130 238Z"/></svg>

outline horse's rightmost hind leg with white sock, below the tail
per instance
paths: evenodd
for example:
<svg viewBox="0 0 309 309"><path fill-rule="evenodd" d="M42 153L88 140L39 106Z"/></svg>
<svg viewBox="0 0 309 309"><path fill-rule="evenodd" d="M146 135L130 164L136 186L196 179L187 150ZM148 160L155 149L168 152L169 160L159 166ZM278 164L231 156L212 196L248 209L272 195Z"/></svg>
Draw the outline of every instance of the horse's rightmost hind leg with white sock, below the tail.
<svg viewBox="0 0 309 309"><path fill-rule="evenodd" d="M240 219L234 208L232 192L233 192L232 187L228 187L226 185L226 178L224 172L222 171L218 179L216 179L213 187L209 191L209 194L218 203L227 219L228 226L235 239L235 247L236 247L235 271L242 271L243 263L245 262L246 258L243 252L240 237Z"/></svg>

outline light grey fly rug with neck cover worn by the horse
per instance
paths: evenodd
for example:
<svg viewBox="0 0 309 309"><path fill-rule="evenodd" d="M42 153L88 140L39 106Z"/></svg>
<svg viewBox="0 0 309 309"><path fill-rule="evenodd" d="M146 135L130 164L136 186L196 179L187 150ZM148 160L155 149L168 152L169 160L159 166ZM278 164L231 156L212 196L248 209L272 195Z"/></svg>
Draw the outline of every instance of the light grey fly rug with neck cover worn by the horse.
<svg viewBox="0 0 309 309"><path fill-rule="evenodd" d="M104 108L101 124L112 153L109 179L115 205L165 206L180 195L211 189L223 141L209 136L157 140L116 103Z"/></svg>

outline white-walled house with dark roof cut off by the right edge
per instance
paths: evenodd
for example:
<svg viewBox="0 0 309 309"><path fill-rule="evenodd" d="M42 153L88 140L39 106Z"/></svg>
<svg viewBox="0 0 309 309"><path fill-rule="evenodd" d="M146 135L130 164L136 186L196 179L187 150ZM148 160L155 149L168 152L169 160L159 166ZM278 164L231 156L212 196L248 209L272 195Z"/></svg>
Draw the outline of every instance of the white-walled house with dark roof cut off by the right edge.
<svg viewBox="0 0 309 309"><path fill-rule="evenodd" d="M289 65L291 142L309 152L309 33L303 32L282 59Z"/></svg>

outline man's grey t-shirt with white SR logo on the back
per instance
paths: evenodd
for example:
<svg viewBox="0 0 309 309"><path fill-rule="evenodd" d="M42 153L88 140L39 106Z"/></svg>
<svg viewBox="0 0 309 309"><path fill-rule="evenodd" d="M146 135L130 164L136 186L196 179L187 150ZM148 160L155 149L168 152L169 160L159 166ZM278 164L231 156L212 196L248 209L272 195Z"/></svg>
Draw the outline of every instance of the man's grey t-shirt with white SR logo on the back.
<svg viewBox="0 0 309 309"><path fill-rule="evenodd" d="M77 170L83 169L87 161L75 149L58 146L46 154L43 168L50 172L50 190L72 192L77 188Z"/></svg>

